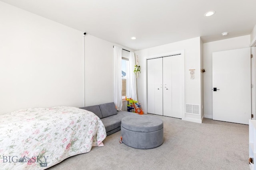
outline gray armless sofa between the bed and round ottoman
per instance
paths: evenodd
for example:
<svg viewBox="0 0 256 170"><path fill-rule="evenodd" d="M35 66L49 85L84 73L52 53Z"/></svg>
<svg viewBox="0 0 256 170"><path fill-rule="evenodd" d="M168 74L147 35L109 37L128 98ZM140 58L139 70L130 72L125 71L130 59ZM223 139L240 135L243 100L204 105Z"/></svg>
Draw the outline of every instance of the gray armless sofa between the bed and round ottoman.
<svg viewBox="0 0 256 170"><path fill-rule="evenodd" d="M80 107L80 109L86 109L96 114L104 124L107 136L120 131L123 117L136 114L128 111L117 111L114 102Z"/></svg>

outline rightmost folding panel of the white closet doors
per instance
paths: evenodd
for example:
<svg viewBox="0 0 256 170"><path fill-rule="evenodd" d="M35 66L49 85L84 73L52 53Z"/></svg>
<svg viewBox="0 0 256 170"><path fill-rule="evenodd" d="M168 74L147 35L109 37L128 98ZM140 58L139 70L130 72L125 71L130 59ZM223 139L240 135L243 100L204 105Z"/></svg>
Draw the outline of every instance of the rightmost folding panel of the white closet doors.
<svg viewBox="0 0 256 170"><path fill-rule="evenodd" d="M182 118L182 58L172 56L172 117Z"/></svg>

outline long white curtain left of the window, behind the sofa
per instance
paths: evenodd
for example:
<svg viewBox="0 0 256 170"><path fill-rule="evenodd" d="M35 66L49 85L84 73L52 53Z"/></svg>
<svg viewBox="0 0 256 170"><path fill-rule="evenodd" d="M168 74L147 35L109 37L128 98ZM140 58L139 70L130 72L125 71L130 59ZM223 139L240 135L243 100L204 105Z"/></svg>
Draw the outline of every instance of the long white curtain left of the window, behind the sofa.
<svg viewBox="0 0 256 170"><path fill-rule="evenodd" d="M114 104L122 110L122 49L114 46Z"/></svg>

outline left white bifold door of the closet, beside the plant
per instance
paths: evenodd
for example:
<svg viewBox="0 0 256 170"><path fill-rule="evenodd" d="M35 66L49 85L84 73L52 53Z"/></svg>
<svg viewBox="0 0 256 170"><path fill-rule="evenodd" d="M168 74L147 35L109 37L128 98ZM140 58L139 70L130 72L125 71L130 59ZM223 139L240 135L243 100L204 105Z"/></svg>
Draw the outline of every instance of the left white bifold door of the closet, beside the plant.
<svg viewBox="0 0 256 170"><path fill-rule="evenodd" d="M147 60L148 113L163 115L162 58Z"/></svg>

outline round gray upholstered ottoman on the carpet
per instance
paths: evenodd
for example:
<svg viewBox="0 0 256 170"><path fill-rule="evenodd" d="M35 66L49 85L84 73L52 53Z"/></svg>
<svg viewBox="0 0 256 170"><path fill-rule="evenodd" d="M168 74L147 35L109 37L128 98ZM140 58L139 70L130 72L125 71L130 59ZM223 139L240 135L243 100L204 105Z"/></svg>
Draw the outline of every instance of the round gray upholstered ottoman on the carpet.
<svg viewBox="0 0 256 170"><path fill-rule="evenodd" d="M151 115L130 115L122 118L122 142L132 148L151 149L164 142L164 124Z"/></svg>

